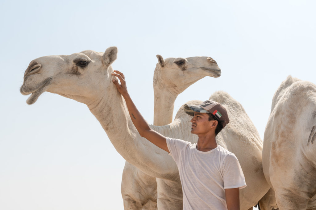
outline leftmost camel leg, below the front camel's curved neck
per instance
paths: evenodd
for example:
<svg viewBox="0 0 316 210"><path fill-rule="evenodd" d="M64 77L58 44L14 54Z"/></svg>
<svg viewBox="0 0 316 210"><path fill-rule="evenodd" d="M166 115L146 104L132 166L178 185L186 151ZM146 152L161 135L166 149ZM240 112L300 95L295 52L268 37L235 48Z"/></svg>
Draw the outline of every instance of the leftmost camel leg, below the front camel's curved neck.
<svg viewBox="0 0 316 210"><path fill-rule="evenodd" d="M156 178L143 173L129 162L125 162L121 193L124 209L157 209Z"/></svg>

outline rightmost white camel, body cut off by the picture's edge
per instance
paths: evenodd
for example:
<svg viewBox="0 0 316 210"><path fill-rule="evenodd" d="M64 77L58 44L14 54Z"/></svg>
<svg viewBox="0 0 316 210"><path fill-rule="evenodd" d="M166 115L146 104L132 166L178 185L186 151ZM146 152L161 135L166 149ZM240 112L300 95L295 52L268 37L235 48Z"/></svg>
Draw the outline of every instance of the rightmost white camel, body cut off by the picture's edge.
<svg viewBox="0 0 316 210"><path fill-rule="evenodd" d="M273 96L262 153L279 209L316 209L315 139L316 85L289 76Z"/></svg>

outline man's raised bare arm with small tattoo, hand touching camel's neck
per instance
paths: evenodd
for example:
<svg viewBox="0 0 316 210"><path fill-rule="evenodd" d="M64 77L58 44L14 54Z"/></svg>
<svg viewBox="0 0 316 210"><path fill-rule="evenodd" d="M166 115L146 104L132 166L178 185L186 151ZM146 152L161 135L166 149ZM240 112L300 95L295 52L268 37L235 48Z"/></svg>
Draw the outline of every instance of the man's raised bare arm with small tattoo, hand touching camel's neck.
<svg viewBox="0 0 316 210"><path fill-rule="evenodd" d="M143 116L137 110L134 102L132 101L130 95L128 94L124 74L120 71L114 71L114 73L112 73L112 75L119 78L119 81L121 84L119 84L119 82L117 80L113 80L112 82L115 84L119 93L125 99L128 112L130 113L131 120L132 120L134 126L136 127L138 133L142 137L148 139L154 145L169 152L168 147L167 147L166 137L164 137L160 133L151 129L149 127L148 123L143 118Z"/></svg>

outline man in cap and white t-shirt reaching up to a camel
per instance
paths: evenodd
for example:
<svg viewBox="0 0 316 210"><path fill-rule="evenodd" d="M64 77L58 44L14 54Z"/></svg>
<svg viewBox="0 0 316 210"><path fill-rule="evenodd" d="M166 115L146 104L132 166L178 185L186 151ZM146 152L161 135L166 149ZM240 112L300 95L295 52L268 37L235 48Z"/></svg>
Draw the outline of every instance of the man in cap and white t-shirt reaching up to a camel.
<svg viewBox="0 0 316 210"><path fill-rule="evenodd" d="M229 122L226 109L214 101L199 106L185 105L193 116L191 133L197 144L166 138L152 130L134 105L126 88L124 75L114 71L113 79L125 99L131 120L139 134L170 153L176 162L183 190L183 209L239 209L239 189L246 187L236 156L216 143L216 135Z"/></svg>

